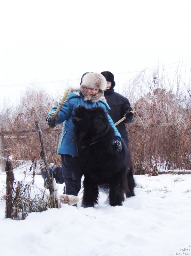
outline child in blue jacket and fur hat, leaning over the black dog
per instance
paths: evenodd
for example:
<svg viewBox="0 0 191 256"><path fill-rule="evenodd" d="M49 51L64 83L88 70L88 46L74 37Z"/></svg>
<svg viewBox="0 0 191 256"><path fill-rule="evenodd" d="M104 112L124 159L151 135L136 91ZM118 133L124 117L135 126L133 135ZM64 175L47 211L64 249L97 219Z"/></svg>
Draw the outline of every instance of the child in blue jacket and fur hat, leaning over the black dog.
<svg viewBox="0 0 191 256"><path fill-rule="evenodd" d="M80 90L70 92L67 101L64 102L58 113L57 119L53 119L52 115L56 111L58 104L51 109L46 121L48 125L58 125L63 123L62 133L58 145L57 153L61 155L61 167L49 168L50 175L55 178L57 183L65 183L64 193L77 196L81 189L82 170L79 168L77 157L77 145L74 143L74 124L72 116L74 109L79 105L86 108L102 107L108 114L109 106L104 100L104 90L107 87L107 81L104 76L97 73L85 73L82 76ZM115 131L114 144L117 150L121 150L121 135L111 117L108 115L108 120ZM45 171L42 176L46 181Z"/></svg>

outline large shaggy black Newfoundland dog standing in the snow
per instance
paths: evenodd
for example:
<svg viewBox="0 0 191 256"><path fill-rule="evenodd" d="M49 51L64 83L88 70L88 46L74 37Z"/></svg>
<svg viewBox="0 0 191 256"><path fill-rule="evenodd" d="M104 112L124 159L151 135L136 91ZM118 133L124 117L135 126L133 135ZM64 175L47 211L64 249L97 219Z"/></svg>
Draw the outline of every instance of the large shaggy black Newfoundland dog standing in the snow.
<svg viewBox="0 0 191 256"><path fill-rule="evenodd" d="M134 196L134 178L129 148L122 141L117 152L112 141L114 129L103 108L79 106L73 116L79 164L84 174L82 207L98 204L99 185L109 186L109 204L122 205L125 197Z"/></svg>

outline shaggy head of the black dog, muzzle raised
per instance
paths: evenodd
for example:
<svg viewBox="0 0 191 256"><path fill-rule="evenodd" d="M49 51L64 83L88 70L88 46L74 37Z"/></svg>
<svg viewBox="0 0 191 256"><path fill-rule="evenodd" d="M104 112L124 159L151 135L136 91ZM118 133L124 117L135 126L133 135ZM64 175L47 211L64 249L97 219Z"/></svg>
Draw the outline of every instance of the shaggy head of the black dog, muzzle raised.
<svg viewBox="0 0 191 256"><path fill-rule="evenodd" d="M110 124L103 108L75 108L72 118L77 144L90 145L99 141L109 131Z"/></svg>

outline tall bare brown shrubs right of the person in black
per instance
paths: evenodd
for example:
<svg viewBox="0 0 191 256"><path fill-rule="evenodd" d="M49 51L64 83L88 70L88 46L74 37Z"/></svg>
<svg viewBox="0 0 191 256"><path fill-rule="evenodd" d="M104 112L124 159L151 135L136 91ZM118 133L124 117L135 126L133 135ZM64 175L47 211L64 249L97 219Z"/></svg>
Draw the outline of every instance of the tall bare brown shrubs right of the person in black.
<svg viewBox="0 0 191 256"><path fill-rule="evenodd" d="M157 71L149 77L141 73L132 82L130 88L134 90L131 92L136 93L128 95L126 90L124 95L135 100L130 101L135 110L135 122L126 125L135 173L151 174L161 166L166 170L191 169L189 84L177 79L173 88Z"/></svg>

